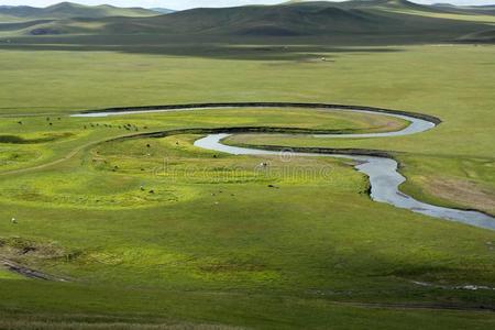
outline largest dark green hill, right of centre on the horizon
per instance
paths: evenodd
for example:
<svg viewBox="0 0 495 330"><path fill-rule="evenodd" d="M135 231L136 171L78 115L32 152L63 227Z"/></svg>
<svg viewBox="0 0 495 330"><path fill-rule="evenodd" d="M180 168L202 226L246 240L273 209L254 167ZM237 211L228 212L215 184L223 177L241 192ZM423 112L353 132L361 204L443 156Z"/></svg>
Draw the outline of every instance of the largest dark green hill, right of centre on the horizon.
<svg viewBox="0 0 495 330"><path fill-rule="evenodd" d="M195 9L146 19L170 31L235 35L455 34L479 23L442 16L433 7L408 1L290 2L272 7ZM442 12L443 13L443 12ZM495 21L495 18L493 18ZM133 20L143 22L143 20Z"/></svg>

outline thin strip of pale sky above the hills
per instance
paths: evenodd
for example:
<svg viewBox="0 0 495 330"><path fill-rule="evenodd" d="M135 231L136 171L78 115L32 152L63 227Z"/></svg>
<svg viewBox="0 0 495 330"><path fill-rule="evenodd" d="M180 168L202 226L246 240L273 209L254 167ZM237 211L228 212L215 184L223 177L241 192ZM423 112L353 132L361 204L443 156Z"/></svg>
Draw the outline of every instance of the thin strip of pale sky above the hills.
<svg viewBox="0 0 495 330"><path fill-rule="evenodd" d="M331 0L334 2L342 2L342 0ZM432 3L451 3L458 6L483 6L495 4L494 0L409 0L411 2L421 4ZM47 7L64 2L62 0L0 0L0 6L32 6L32 7ZM284 0L76 0L68 1L81 4L112 4L118 7L143 7L143 8L169 8L175 10L184 10L198 7L235 7L245 4L276 4Z"/></svg>

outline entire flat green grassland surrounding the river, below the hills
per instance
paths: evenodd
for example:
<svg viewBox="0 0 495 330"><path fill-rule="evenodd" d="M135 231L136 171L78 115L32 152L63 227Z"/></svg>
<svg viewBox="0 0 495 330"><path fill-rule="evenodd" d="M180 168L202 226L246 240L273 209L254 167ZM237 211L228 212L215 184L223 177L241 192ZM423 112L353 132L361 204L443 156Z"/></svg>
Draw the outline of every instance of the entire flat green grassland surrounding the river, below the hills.
<svg viewBox="0 0 495 330"><path fill-rule="evenodd" d="M232 127L378 132L404 121L304 109L69 117L222 101L428 113L443 122L409 136L228 142L392 151L404 191L493 213L494 46L112 42L0 46L0 260L67 279L0 268L0 328L494 327L495 234L373 202L349 161L215 153L193 145L198 132L109 141Z"/></svg>

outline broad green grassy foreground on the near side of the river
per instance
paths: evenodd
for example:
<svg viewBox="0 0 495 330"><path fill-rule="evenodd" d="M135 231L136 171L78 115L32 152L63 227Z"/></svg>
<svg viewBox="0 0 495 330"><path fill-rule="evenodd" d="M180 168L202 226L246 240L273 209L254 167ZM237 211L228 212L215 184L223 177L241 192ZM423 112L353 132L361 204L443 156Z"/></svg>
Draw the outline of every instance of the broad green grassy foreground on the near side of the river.
<svg viewBox="0 0 495 330"><path fill-rule="evenodd" d="M68 314L63 317L68 320L131 314L143 322L140 314L145 312L151 315L147 321L262 328L328 322L361 328L376 324L376 314L383 314L384 327L394 327L398 316L418 327L433 315L343 308L330 301L473 306L493 299L491 292L410 283L491 285L492 232L376 205L362 194L365 180L341 162L300 160L287 167L273 158L270 175L255 175L252 168L260 158L213 158L212 153L191 147L194 139L103 144L52 170L4 179L3 191L20 186L26 195L9 193L2 198L1 217L19 219L18 226L2 222L2 233L21 238L15 245L9 241L3 245L37 246L14 258L76 278L69 285L0 282L7 297L0 302L4 319L16 318L14 310L29 307L32 318L40 314L44 319L47 311ZM117 172L113 165L119 165ZM320 170L309 176L287 172L328 166L330 177ZM144 193L139 190L143 184ZM29 187L36 186L31 193ZM150 188L156 191L153 197ZM131 194L122 197L113 191ZM130 200L141 206L129 208ZM28 239L35 243L23 243ZM9 298L13 293L15 299ZM70 316L75 308L79 316ZM492 320L490 315L480 319L457 312L436 322L462 328L486 327Z"/></svg>

